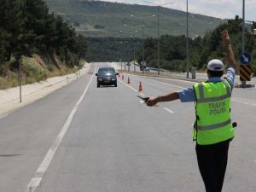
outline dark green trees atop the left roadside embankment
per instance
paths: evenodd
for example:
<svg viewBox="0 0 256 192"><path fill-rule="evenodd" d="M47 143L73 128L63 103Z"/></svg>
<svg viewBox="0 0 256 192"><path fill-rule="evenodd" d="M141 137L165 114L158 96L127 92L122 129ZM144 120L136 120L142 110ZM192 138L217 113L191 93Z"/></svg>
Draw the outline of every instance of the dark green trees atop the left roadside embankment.
<svg viewBox="0 0 256 192"><path fill-rule="evenodd" d="M33 53L58 55L69 66L86 55L86 39L43 0L0 0L0 65Z"/></svg>

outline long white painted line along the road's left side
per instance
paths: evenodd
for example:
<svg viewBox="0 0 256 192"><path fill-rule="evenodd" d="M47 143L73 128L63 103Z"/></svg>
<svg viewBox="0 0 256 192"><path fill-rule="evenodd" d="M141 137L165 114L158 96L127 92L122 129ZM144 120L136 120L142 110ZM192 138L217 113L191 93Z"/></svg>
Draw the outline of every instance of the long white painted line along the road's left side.
<svg viewBox="0 0 256 192"><path fill-rule="evenodd" d="M61 144L61 140L62 138L65 136L69 125L71 124L72 120L73 120L73 116L76 113L77 109L79 108L80 103L82 102L82 100L84 99L84 96L87 92L87 90L89 89L89 86L91 84L91 81L93 79L93 75L90 78L90 82L89 84L87 84L83 95L80 97L79 101L75 104L72 112L69 114L67 121L65 122L65 124L63 125L61 132L59 133L59 135L55 138L54 143L51 145L51 147L49 148L49 151L47 152L47 154L44 157L44 160L42 161L41 165L38 167L38 170L35 174L35 177L32 178L32 180L30 181L30 183L28 183L27 188L26 188L26 192L34 192L35 189L38 188L39 184L42 181L42 177L44 175L44 172L47 171L48 166L51 162L51 160L53 160L53 157L55 155L56 150L59 148L60 144Z"/></svg>

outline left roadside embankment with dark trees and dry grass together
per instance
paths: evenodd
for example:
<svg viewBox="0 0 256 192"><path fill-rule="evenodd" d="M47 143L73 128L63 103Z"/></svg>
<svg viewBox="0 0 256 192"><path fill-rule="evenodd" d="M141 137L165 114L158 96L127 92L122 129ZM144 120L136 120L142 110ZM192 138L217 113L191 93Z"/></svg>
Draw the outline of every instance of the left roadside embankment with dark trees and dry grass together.
<svg viewBox="0 0 256 192"><path fill-rule="evenodd" d="M0 0L0 89L75 71L86 40L43 0Z"/></svg>

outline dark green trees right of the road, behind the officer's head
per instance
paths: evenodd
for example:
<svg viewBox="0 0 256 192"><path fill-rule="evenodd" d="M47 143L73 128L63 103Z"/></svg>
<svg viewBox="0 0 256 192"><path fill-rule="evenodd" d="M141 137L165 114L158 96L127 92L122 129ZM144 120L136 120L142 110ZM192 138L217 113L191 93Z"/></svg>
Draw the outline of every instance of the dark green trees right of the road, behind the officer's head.
<svg viewBox="0 0 256 192"><path fill-rule="evenodd" d="M256 58L256 36L252 34L256 28L256 22L246 28L245 50ZM238 16L220 24L212 32L206 32L204 36L189 38L189 65L198 69L206 69L207 62L213 58L225 61L225 51L222 46L220 33L227 29L230 33L231 44L236 60L242 53L242 20ZM147 38L144 42L144 60L149 67L157 67L157 39ZM141 52L137 53L137 60L142 61ZM256 61L252 63L253 71L256 73ZM160 67L184 71L186 69L186 37L163 35L160 37Z"/></svg>

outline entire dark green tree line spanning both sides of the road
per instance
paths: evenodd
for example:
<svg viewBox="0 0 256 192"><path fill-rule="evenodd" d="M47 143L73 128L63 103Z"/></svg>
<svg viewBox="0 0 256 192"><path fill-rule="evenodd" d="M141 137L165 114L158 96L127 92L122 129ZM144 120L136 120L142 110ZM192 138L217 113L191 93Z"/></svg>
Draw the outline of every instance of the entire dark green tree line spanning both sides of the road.
<svg viewBox="0 0 256 192"><path fill-rule="evenodd" d="M0 66L12 57L31 56L33 53L58 55L69 66L79 59L88 61L144 60L148 67L158 65L157 38L84 38L77 35L60 15L49 14L43 0L0 0ZM230 32L236 58L241 54L241 23L235 19L219 25L203 36L189 38L189 65L205 69L212 58L225 58L220 32ZM251 30L246 29L246 50L256 58L256 41ZM144 45L144 46L143 46ZM88 49L88 51L87 51ZM144 54L143 54L144 53ZM173 71L186 68L186 37L160 36L160 67ZM256 71L256 61L253 61Z"/></svg>

